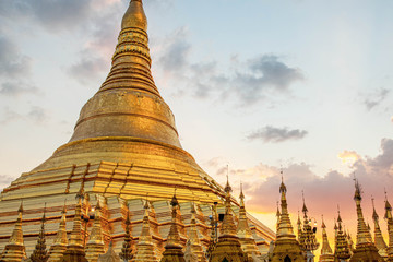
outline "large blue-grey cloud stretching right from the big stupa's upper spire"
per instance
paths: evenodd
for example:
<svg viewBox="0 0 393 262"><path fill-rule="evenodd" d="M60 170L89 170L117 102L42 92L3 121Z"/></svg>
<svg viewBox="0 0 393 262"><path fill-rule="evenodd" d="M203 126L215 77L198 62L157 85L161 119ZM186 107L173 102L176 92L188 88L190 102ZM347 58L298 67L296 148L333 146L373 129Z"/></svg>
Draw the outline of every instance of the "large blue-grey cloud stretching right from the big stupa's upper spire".
<svg viewBox="0 0 393 262"><path fill-rule="evenodd" d="M188 41L187 28L180 28L154 46L157 51L158 70L163 71L166 82L177 86L178 94L191 94L199 98L221 97L225 100L234 96L243 106L285 95L297 81L305 79L300 69L284 63L276 55L261 55L241 61L231 58L227 73L221 73L217 61L209 59L191 61L192 45Z"/></svg>

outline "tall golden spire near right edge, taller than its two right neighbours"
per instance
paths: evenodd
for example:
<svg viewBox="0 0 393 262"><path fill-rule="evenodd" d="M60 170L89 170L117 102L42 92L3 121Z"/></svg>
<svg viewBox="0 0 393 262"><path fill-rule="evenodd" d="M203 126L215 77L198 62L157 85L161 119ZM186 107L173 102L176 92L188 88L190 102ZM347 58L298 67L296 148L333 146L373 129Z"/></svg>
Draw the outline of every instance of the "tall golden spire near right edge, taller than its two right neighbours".
<svg viewBox="0 0 393 262"><path fill-rule="evenodd" d="M366 226L365 218L361 211L361 190L359 182L355 180L355 195L354 200L356 203L357 212L357 235L356 235L356 247L350 258L350 262L382 262L382 257L378 253L376 245L372 242L371 233Z"/></svg>

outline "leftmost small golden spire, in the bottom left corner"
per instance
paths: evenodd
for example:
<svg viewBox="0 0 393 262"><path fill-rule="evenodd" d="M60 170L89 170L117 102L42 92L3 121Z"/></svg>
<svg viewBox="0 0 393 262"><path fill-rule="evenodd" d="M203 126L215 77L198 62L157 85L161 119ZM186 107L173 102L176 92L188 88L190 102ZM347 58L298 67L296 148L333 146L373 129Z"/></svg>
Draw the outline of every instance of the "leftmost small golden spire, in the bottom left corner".
<svg viewBox="0 0 393 262"><path fill-rule="evenodd" d="M1 255L1 261L7 262L20 262L26 258L25 246L23 242L23 230L22 230L22 215L23 215L23 202L17 210L17 218L9 239L8 245Z"/></svg>

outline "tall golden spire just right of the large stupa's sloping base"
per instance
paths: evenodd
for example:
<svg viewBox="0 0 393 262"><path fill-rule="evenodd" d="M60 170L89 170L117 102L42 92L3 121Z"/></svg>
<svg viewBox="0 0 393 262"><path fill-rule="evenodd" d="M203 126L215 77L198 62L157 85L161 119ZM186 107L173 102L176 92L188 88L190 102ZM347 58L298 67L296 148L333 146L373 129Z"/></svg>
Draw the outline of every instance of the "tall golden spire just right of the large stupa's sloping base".
<svg viewBox="0 0 393 262"><path fill-rule="evenodd" d="M296 240L294 228L290 223L288 204L286 200L286 187L284 184L283 171L282 183L279 186L281 193L281 216L277 229L277 238L274 242L271 262L290 262L290 261L305 261L306 257L300 249L299 242Z"/></svg>

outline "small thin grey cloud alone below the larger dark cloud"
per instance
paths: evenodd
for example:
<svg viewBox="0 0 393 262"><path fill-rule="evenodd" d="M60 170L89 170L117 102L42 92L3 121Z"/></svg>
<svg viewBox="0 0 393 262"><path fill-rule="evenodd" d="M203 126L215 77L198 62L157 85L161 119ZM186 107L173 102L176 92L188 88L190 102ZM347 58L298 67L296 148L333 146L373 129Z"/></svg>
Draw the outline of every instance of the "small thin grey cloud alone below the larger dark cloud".
<svg viewBox="0 0 393 262"><path fill-rule="evenodd" d="M308 132L299 129L275 128L266 126L247 136L248 140L262 140L263 142L281 143L289 140L303 139Z"/></svg>

